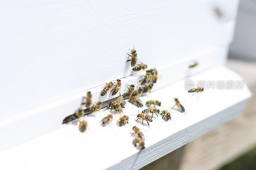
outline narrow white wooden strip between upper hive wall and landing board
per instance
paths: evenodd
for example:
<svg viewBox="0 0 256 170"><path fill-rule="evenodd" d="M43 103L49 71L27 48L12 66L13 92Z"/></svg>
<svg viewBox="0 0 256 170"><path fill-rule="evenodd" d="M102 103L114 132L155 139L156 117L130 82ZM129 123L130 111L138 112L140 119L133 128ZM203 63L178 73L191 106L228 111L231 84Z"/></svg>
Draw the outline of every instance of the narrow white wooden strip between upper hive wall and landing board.
<svg viewBox="0 0 256 170"><path fill-rule="evenodd" d="M226 52L227 48L212 48L191 55L189 60L184 59L180 60L180 62L156 67L161 78L158 79L152 91L156 91L157 89L160 89L166 85L170 85L171 83L186 78L189 75L204 71L209 67L224 64L226 60ZM198 67L189 69L188 66L194 61L199 63ZM144 74L144 72L121 78L121 94L126 92L126 84L130 85L133 83L136 86L140 85L140 83L137 82L141 79L141 74ZM87 91L92 92L93 102L98 100L106 101L119 95L118 93L115 96L112 96L108 92L107 95L100 96L100 92L104 85L100 85L98 87L85 90L66 98L55 100L54 102L47 103L29 110L22 112L17 111L17 114L10 115L1 119L0 132L4 134L5 140L0 141L0 149L12 146L13 144L17 144L28 138L41 135L52 129L60 127L62 125L63 119L66 116L73 114L74 111L80 107L82 97L86 94ZM49 117L51 119L49 119ZM40 121L38 122L38 120ZM26 135L20 134L20 132L16 130L16 127L19 127L21 131L25 131Z"/></svg>

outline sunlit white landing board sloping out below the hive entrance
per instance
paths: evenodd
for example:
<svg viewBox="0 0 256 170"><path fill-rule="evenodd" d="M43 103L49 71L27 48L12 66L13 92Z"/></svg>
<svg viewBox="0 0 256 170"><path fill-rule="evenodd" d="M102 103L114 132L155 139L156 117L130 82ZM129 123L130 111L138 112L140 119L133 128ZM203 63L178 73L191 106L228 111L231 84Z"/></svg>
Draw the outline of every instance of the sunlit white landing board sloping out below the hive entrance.
<svg viewBox="0 0 256 170"><path fill-rule="evenodd" d="M242 80L236 73L222 66L204 71L190 79L195 82L197 80ZM146 149L141 151L142 155L146 156L152 154L154 147L150 146L167 137L171 138L172 144L177 142L181 145L185 144L191 134L184 131L184 133L178 133L177 136L177 132L208 118L215 119L213 115L236 106L250 96L251 93L245 85L243 90L205 90L191 97L191 93L184 89L184 80L182 80L141 98L144 102L148 99L160 100L162 108L168 109L174 105L171 97L177 97L186 112L180 113L173 109L171 111L172 121L165 122L154 117L148 128L146 122L144 122L145 126L135 122L138 110L141 111L144 108L138 109L127 103L124 114L129 115L129 124L118 127L116 121L120 114L117 113L114 114L112 125L102 127L100 120L109 114L108 111L102 111L87 117L90 129L86 133L80 133L77 126L63 125L45 135L2 151L0 153L1 167L3 169L106 169L138 152L133 147L133 137L130 136L134 125L138 126L146 137ZM232 113L232 111L228 112L230 115ZM230 119L230 116L222 116L224 120L220 122ZM211 122L209 119L208 122ZM197 129L205 130L211 127L207 123L201 125L204 127L200 126ZM131 160L129 161L131 163Z"/></svg>

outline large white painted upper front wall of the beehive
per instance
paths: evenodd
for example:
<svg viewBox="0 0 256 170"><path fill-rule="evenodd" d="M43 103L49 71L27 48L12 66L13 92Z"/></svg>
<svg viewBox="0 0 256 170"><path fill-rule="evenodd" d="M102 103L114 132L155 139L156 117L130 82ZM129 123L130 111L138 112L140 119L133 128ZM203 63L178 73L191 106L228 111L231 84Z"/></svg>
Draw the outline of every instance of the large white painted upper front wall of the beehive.
<svg viewBox="0 0 256 170"><path fill-rule="evenodd" d="M130 75L125 53L133 46L149 67L228 47L237 4L1 1L0 118ZM213 12L215 6L224 19Z"/></svg>

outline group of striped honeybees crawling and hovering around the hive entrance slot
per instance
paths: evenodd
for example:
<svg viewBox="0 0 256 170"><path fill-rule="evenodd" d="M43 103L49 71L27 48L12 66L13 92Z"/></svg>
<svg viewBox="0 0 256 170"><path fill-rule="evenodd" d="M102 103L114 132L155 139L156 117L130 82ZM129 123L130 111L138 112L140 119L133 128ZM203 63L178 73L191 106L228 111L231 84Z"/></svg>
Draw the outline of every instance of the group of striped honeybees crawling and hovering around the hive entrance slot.
<svg viewBox="0 0 256 170"><path fill-rule="evenodd" d="M128 54L128 53L127 53ZM139 87L135 90L135 86L132 85L125 85L127 87L127 92L121 95L120 89L121 89L121 80L117 79L115 83L109 82L106 83L102 91L100 92L101 96L104 96L110 91L112 95L116 95L117 92L119 92L119 97L116 99L116 101L109 102L108 105L106 106L108 109L114 110L115 113L117 111L123 112L123 109L125 108L126 101L128 100L129 102L132 103L132 105L135 103L138 108L143 107L142 101L139 99L139 96L142 94L146 94L151 91L153 88L153 85L157 82L158 79L158 73L156 68L154 69L147 69L147 65L140 62L140 64L137 64L137 52L135 49L131 50L131 53L128 54L131 59L127 60L126 62L131 61L131 66L133 67L132 70L134 72L137 71L146 71L145 75L142 75L142 79L138 82L140 83ZM194 64L193 66L189 66L189 68L192 68L194 66L198 65ZM196 88L196 89L190 89L188 92L202 92L204 88ZM194 94L193 94L194 95ZM173 100L175 102L175 106L178 107L180 112L185 112L185 108L180 104L180 101L177 98L174 98ZM167 110L162 110L160 111L156 107L161 107L161 102L158 100L148 100L145 105L148 107L147 109L142 110L142 112L137 115L137 120L136 122L140 119L142 121L143 125L143 120L145 120L148 123L152 122L152 118L154 115L158 117L159 115L162 115L162 119L168 121L171 120L171 114ZM85 109L82 109L82 107L86 107ZM173 108L172 107L172 108ZM77 123L79 123L79 131L84 132L86 131L88 124L85 120L84 115L92 114L95 113L96 111L99 111L102 108L102 102L98 101L95 104L92 104L92 93L87 92L86 96L83 97L81 107L75 111L73 115L69 115L63 120L63 124L67 124L69 122L72 122L73 120L76 120ZM151 115L151 116L150 116ZM102 118L100 122L102 122L102 125L106 125L108 122L112 123L113 120L113 115L109 114L106 117ZM116 124L119 126L124 126L126 123L128 124L129 117L127 115L123 115L120 117L120 119L117 121ZM149 126L150 127L150 126ZM143 133L140 131L140 129L136 126L132 128L134 131L134 134L136 137L133 140L134 146L138 146L140 149L145 148L145 137Z"/></svg>

